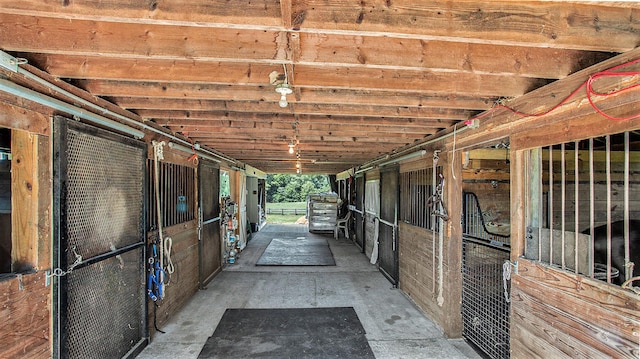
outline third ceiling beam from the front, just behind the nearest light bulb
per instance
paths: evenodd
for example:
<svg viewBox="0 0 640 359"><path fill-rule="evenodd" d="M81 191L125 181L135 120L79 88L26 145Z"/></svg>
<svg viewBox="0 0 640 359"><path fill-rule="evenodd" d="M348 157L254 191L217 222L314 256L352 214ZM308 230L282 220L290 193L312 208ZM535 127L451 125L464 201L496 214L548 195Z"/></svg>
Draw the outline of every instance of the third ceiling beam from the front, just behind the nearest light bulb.
<svg viewBox="0 0 640 359"><path fill-rule="evenodd" d="M24 54L54 76L71 79L111 79L217 84L268 85L269 73L281 66L196 60L122 59L105 56ZM208 74L202 76L202 74ZM296 65L296 86L350 90L435 91L512 97L546 84L544 79L474 73L365 69Z"/></svg>

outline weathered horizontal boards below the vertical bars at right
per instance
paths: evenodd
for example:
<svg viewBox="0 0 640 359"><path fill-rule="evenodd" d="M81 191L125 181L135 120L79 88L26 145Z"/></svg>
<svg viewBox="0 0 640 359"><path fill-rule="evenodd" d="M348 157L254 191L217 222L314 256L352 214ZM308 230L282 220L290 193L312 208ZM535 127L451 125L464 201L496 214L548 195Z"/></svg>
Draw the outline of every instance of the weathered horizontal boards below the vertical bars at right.
<svg viewBox="0 0 640 359"><path fill-rule="evenodd" d="M638 358L640 301L526 259L512 275L512 358Z"/></svg>

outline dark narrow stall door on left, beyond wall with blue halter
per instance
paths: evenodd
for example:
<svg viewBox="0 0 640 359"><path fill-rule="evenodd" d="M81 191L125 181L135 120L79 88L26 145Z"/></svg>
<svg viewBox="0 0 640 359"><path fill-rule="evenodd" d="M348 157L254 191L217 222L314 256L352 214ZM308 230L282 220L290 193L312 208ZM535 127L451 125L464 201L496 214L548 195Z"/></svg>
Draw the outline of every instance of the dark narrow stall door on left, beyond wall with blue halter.
<svg viewBox="0 0 640 359"><path fill-rule="evenodd" d="M201 160L199 177L199 261L200 287L206 286L222 269L220 244L220 169Z"/></svg>

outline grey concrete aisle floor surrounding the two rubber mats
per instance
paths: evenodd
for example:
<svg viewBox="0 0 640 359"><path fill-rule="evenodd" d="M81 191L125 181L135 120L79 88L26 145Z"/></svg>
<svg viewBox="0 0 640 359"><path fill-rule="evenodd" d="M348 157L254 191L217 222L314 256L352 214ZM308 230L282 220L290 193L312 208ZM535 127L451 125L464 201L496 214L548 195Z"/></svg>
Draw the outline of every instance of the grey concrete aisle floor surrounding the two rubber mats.
<svg viewBox="0 0 640 359"><path fill-rule="evenodd" d="M323 236L335 266L271 267L256 261L272 238ZM306 225L267 225L138 356L197 358L227 308L354 307L376 358L480 358L462 339L440 329L343 237L308 232Z"/></svg>

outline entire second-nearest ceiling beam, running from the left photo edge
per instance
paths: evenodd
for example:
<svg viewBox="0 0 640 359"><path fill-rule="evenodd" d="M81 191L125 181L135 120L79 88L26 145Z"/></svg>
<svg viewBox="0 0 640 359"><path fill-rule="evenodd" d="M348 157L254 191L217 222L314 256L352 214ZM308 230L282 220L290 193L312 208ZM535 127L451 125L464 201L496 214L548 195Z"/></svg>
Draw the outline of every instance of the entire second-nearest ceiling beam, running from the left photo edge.
<svg viewBox="0 0 640 359"><path fill-rule="evenodd" d="M290 4L289 4L290 5ZM285 7L283 5L283 7ZM9 36L18 32L19 36ZM3 49L117 58L515 73L563 78L611 53L277 30L102 23L3 14ZM496 53L509 56L495 56ZM293 79L290 83L295 83Z"/></svg>

